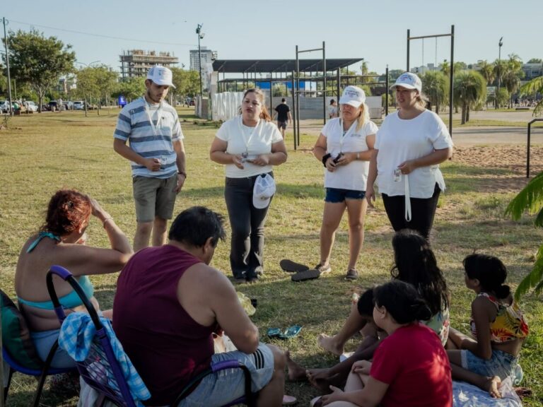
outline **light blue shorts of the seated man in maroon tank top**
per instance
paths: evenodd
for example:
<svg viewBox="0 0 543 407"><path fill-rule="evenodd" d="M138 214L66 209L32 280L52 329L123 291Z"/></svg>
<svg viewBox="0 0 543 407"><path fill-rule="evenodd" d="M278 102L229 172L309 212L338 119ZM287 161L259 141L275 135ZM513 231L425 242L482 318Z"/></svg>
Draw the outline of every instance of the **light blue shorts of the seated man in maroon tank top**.
<svg viewBox="0 0 543 407"><path fill-rule="evenodd" d="M274 354L264 343L260 343L256 352L247 353L234 350L233 352L216 353L211 362L223 360L239 360L251 372L252 392L255 393L266 386L274 373ZM181 401L178 407L213 407L223 406L229 401L238 399L245 394L243 370L225 369L208 374L196 389Z"/></svg>

